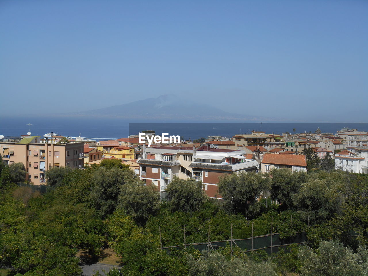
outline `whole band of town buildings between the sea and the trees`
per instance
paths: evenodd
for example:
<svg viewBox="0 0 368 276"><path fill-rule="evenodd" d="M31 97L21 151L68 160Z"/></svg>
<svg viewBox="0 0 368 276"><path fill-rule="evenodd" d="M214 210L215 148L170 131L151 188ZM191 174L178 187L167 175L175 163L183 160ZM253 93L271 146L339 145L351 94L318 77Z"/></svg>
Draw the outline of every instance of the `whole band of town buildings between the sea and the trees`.
<svg viewBox="0 0 368 276"><path fill-rule="evenodd" d="M320 166L368 173L368 133L357 129L343 128L335 134L322 133L319 128L314 133L280 135L252 131L236 134L232 139L209 136L171 144L153 139L155 136L155 131L142 131L128 138L97 142L52 134L2 137L0 152L3 162L10 166L23 163L25 181L33 185L45 185L45 172L52 167L84 169L86 164L117 159L146 185L157 187L162 198L173 177L202 181L208 197L221 199L217 184L225 174L269 173L274 168L312 171ZM146 142L142 143L142 139Z"/></svg>

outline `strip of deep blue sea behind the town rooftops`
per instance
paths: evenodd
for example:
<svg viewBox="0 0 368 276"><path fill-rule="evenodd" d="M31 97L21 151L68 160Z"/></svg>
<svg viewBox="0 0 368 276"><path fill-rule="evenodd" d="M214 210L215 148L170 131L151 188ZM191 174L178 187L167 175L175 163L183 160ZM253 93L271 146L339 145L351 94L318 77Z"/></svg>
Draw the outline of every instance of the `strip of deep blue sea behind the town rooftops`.
<svg viewBox="0 0 368 276"><path fill-rule="evenodd" d="M0 135L18 137L31 132L31 135L43 136L54 132L66 137L88 137L96 140L118 139L138 134L145 130L154 130L156 134L169 133L179 135L183 140L193 140L211 135L232 137L235 134L250 134L265 131L266 134L315 132L319 128L323 133L335 134L342 128L356 128L368 131L368 123L130 123L118 118L71 118L71 117L1 117Z"/></svg>

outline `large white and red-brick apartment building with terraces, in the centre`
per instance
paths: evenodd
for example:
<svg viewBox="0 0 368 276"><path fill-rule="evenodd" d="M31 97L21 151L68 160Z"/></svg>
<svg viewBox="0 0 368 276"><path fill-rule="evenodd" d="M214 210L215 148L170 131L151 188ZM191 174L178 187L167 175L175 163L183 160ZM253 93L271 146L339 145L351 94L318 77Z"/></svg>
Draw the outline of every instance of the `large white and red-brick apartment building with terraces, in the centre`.
<svg viewBox="0 0 368 276"><path fill-rule="evenodd" d="M147 148L144 157L137 160L139 176L147 184L156 185L164 191L174 176L181 179L194 178L204 184L206 194L221 198L217 183L227 173L258 170L256 160L246 159L245 151L211 148L198 149L179 146Z"/></svg>

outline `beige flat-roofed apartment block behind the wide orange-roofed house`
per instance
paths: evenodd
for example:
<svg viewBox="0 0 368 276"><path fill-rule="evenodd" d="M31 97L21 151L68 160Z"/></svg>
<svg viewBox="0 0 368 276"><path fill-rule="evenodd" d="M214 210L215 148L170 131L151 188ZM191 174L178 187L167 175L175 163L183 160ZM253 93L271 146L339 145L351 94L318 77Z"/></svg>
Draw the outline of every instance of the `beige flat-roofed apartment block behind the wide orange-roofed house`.
<svg viewBox="0 0 368 276"><path fill-rule="evenodd" d="M245 146L263 146L265 149L284 148L285 142L280 135L266 134L264 131L252 131L252 134L237 134L233 136L237 148Z"/></svg>

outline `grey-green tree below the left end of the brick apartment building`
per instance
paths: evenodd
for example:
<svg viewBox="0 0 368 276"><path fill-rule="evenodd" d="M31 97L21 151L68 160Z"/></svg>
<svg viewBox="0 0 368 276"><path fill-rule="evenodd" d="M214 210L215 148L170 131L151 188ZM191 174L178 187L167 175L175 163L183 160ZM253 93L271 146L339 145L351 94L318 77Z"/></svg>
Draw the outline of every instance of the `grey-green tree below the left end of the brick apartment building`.
<svg viewBox="0 0 368 276"><path fill-rule="evenodd" d="M154 186L122 185L119 207L123 208L138 225L144 225L149 215L155 215L160 205L160 194Z"/></svg>

